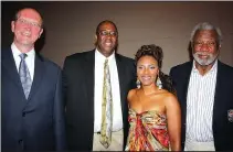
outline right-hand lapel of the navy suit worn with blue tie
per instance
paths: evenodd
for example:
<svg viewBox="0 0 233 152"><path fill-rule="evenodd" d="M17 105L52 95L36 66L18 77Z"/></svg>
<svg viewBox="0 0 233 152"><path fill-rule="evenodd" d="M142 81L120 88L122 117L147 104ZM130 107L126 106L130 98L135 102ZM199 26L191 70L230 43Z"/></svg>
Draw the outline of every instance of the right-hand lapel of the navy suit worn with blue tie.
<svg viewBox="0 0 233 152"><path fill-rule="evenodd" d="M36 93L36 89L41 84L43 74L44 74L43 61L41 57L39 57L39 55L35 55L34 78L32 82L32 87L31 87L28 102L31 100L32 96Z"/></svg>

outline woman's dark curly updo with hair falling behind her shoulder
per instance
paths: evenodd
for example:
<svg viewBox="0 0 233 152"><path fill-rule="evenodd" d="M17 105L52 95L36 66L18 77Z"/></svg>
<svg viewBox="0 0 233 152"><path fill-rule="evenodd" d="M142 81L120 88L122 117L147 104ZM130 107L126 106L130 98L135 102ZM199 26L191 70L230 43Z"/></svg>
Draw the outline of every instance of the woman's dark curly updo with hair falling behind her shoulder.
<svg viewBox="0 0 233 152"><path fill-rule="evenodd" d="M150 44L150 45L142 45L136 53L135 55L135 61L136 61L136 65L138 63L138 61L140 59L140 57L142 56L152 56L157 62L158 62L158 66L159 66L159 78L162 83L162 88L167 89L168 91L174 94L174 88L172 86L172 80L171 78L163 74L161 72L161 66L162 66L162 58L163 58L163 53L162 53L162 48L160 46L157 46L155 44Z"/></svg>

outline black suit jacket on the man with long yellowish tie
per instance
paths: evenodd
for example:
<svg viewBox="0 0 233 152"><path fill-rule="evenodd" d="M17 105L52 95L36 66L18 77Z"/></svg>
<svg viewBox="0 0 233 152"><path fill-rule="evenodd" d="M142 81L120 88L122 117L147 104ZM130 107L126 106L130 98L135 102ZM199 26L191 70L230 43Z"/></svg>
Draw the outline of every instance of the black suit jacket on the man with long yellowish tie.
<svg viewBox="0 0 233 152"><path fill-rule="evenodd" d="M124 121L124 143L128 134L127 94L135 85L134 61L116 54ZM92 150L94 133L95 50L67 56L64 63L68 150Z"/></svg>

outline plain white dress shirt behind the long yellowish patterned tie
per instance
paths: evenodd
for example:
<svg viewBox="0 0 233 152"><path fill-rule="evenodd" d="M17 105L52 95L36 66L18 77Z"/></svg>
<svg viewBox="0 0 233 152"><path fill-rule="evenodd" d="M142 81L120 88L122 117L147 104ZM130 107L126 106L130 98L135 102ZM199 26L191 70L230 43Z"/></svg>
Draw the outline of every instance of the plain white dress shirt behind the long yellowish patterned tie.
<svg viewBox="0 0 233 152"><path fill-rule="evenodd" d="M94 95L94 132L100 131L102 126L102 99L103 99L103 84L104 84L104 63L106 57L95 50L95 95ZM110 70L110 85L113 94L113 131L123 129L123 112L120 102L120 90L118 70L115 59L115 53L113 53L108 59Z"/></svg>

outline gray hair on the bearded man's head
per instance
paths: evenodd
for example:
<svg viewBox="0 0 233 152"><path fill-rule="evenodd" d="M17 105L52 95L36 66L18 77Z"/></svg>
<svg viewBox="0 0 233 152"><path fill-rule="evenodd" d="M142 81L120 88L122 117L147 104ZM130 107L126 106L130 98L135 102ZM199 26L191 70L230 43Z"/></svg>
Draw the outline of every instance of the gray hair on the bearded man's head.
<svg viewBox="0 0 233 152"><path fill-rule="evenodd" d="M202 22L202 23L197 24L191 32L190 41L191 41L192 44L193 44L193 39L194 39L195 33L198 31L201 31L201 30L213 30L213 31L215 31L216 34L218 34L218 37L216 37L218 44L220 45L222 43L222 32L221 32L221 30L218 26L214 26L211 23Z"/></svg>

